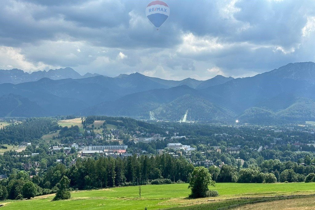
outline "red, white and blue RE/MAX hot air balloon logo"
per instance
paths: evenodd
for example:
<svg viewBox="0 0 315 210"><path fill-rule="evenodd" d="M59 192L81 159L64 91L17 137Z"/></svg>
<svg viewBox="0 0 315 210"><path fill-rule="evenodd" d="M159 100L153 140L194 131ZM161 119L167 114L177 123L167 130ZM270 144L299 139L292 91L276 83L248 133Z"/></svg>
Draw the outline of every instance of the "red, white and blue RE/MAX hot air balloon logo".
<svg viewBox="0 0 315 210"><path fill-rule="evenodd" d="M153 1L146 6L146 17L158 31L169 17L169 6L162 1Z"/></svg>

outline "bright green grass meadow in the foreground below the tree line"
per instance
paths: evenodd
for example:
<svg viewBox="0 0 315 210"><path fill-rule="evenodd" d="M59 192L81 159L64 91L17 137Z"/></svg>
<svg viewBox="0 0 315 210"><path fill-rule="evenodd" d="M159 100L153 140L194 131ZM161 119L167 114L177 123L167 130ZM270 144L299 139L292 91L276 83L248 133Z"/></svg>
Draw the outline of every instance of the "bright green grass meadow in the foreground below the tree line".
<svg viewBox="0 0 315 210"><path fill-rule="evenodd" d="M51 201L53 195L47 195L31 200L7 201L5 206L1 208L143 210L145 207L147 209L174 207L174 209L213 209L219 204L230 205L230 201L208 201L209 198L188 199L187 196L190 193L190 189L187 187L188 184L144 185L142 186L141 199L139 199L139 189L137 186L117 187L105 190L84 190L72 192L71 199L65 201ZM240 196L312 194L315 193L315 183L217 183L216 187L210 187L210 189L219 191L220 196L215 199L227 199ZM286 201L292 202L292 200Z"/></svg>

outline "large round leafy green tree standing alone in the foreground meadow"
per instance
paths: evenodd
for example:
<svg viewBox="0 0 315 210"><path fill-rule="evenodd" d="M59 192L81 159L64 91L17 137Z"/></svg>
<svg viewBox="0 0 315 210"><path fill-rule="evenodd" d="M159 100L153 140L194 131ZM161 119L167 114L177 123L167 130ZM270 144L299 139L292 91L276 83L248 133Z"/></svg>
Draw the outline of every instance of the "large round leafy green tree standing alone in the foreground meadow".
<svg viewBox="0 0 315 210"><path fill-rule="evenodd" d="M192 190L189 196L193 198L206 197L209 184L215 186L215 181L211 179L211 174L208 170L203 166L195 167L188 186Z"/></svg>

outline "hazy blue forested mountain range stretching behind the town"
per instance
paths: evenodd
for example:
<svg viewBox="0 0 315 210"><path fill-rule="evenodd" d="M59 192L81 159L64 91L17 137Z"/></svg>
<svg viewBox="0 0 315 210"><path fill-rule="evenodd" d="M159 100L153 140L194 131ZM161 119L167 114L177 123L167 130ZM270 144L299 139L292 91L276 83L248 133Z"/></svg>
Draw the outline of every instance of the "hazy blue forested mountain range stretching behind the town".
<svg viewBox="0 0 315 210"><path fill-rule="evenodd" d="M13 81L2 77L3 71ZM140 73L81 76L71 68L22 73L0 70L2 117L75 114L149 119L151 112L155 119L178 121L188 110L187 119L192 121L315 121L313 62L289 63L254 77L218 75L206 81L164 80Z"/></svg>

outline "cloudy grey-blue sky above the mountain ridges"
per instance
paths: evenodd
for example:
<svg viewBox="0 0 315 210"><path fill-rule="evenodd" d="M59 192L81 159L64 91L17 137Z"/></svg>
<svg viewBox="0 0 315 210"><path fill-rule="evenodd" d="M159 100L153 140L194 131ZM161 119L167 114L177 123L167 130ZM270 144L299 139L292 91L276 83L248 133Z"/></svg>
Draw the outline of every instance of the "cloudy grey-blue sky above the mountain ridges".
<svg viewBox="0 0 315 210"><path fill-rule="evenodd" d="M315 61L315 0L164 0L160 31L150 2L0 1L0 69L205 80Z"/></svg>

